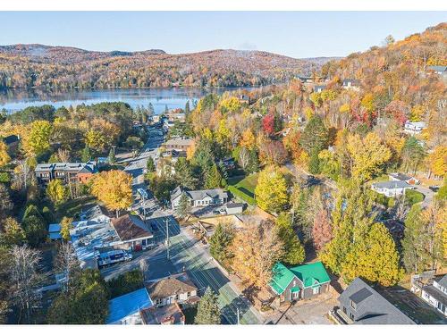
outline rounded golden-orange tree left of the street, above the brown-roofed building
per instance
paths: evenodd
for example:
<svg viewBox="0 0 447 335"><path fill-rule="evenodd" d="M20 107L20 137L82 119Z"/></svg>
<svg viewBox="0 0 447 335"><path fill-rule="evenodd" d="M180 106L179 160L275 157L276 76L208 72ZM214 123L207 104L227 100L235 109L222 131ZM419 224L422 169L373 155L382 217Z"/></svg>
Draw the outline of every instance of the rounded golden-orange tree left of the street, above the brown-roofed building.
<svg viewBox="0 0 447 335"><path fill-rule="evenodd" d="M131 175L119 170L101 172L93 179L91 193L118 216L120 210L132 204Z"/></svg>

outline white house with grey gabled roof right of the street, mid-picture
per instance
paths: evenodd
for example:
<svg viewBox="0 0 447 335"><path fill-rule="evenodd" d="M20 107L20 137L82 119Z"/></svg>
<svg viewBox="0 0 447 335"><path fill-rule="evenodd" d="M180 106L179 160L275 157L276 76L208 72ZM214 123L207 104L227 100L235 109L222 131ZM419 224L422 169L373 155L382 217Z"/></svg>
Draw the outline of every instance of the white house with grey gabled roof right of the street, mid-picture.
<svg viewBox="0 0 447 335"><path fill-rule="evenodd" d="M228 193L222 188L190 191L178 186L171 192L171 205L173 206L173 209L179 206L182 194L185 194L190 198L190 204L193 207L223 205L228 200Z"/></svg>

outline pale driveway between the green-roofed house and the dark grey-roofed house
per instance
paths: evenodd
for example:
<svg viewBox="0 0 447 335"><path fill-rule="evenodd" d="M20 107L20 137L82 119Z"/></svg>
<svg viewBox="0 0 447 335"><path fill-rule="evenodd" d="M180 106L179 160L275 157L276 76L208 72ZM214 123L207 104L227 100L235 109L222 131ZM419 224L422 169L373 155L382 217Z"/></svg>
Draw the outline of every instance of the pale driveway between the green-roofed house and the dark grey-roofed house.
<svg viewBox="0 0 447 335"><path fill-rule="evenodd" d="M269 324L333 324L327 314L338 306L335 292L329 292L311 300L298 301L295 305L281 306L270 315Z"/></svg>

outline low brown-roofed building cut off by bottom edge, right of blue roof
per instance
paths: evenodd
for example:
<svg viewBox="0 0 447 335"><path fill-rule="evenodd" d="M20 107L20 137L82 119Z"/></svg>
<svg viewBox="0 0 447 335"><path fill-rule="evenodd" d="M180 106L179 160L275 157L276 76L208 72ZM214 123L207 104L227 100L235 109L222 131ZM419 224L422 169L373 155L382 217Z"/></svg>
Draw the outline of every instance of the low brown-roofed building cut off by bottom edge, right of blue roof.
<svg viewBox="0 0 447 335"><path fill-rule="evenodd" d="M185 314L177 303L165 306L152 306L142 309L139 314L144 324L185 324Z"/></svg>

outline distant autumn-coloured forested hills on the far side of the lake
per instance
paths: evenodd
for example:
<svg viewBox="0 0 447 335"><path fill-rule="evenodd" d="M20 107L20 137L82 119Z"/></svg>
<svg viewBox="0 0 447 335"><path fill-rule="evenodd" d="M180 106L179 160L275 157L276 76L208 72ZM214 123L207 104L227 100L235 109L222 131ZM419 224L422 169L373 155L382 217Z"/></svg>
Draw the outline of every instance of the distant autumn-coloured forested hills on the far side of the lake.
<svg viewBox="0 0 447 335"><path fill-rule="evenodd" d="M105 53L63 46L0 46L0 88L257 86L319 71L326 60L330 58L314 62L238 50Z"/></svg>

